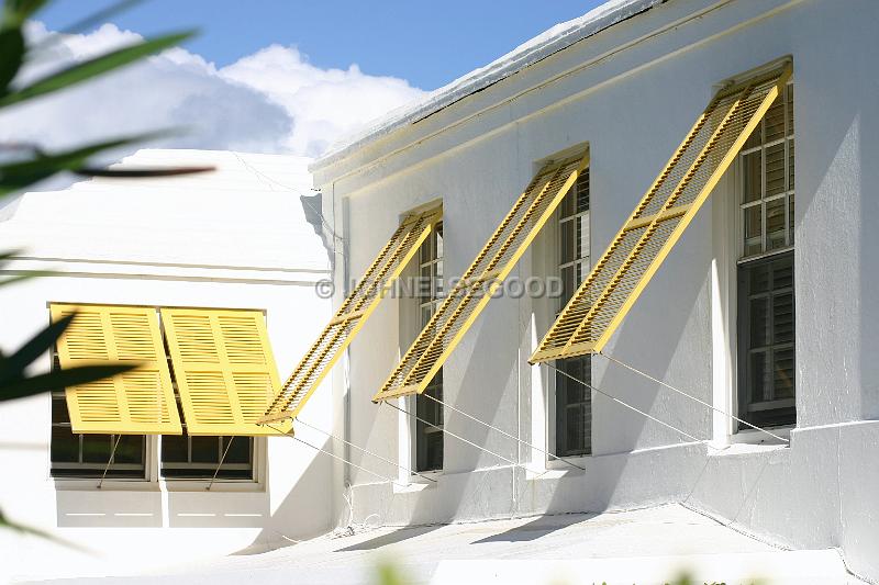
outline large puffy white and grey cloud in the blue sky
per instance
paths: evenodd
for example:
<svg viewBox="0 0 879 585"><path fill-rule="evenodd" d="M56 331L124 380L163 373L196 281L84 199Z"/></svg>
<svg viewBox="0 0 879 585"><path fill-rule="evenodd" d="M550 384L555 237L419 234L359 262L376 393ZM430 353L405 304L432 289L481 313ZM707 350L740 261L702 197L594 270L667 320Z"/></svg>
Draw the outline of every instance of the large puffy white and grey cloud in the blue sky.
<svg viewBox="0 0 879 585"><path fill-rule="evenodd" d="M41 23L29 37L44 38ZM141 38L105 24L65 35L22 72L22 80ZM343 134L424 95L405 80L321 69L293 47L272 45L218 69L182 48L0 114L0 140L47 147L183 126L157 146L316 156Z"/></svg>

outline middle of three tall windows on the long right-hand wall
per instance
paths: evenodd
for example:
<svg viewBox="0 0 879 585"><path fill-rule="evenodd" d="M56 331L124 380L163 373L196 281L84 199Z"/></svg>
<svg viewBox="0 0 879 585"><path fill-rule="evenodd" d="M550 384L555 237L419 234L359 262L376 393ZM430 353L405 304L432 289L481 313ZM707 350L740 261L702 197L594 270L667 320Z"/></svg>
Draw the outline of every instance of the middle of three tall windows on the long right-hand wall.
<svg viewBox="0 0 879 585"><path fill-rule="evenodd" d="M558 214L558 273L563 282L558 313L589 274L589 169L583 170L561 201ZM558 360L563 372L591 383L591 358ZM555 378L555 452L560 457L591 452L592 393L561 372Z"/></svg>

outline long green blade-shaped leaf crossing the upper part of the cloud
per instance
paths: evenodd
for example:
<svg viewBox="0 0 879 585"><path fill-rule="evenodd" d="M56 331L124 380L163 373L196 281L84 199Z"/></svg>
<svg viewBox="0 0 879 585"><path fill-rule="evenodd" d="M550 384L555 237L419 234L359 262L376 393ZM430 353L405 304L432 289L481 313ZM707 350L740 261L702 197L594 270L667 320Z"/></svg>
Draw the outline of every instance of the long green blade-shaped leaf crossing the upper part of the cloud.
<svg viewBox="0 0 879 585"><path fill-rule="evenodd" d="M177 46L193 34L194 31L168 34L156 38L151 38L142 43L136 43L134 45L110 52L105 55L101 55L100 57L79 63L73 67L58 71L57 74L44 77L38 81L34 81L25 88L13 91L12 93L8 93L7 95L0 98L0 108L9 106L24 100L31 100L38 95L45 95L46 93L52 93L70 86L75 86L76 83L88 81L100 75L119 69L120 67L131 65L132 63L141 60L155 53L160 53L166 48Z"/></svg>

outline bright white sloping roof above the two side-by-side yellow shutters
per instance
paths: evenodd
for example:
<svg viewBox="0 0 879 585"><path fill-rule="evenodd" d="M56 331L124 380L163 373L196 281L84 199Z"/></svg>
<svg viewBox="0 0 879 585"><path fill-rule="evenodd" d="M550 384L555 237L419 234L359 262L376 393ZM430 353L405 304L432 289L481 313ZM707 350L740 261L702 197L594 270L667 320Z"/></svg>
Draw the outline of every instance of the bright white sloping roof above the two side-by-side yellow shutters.
<svg viewBox="0 0 879 585"><path fill-rule="evenodd" d="M326 270L305 220L311 159L144 149L112 168L213 166L211 172L96 178L31 192L0 222L0 249L58 260Z"/></svg>

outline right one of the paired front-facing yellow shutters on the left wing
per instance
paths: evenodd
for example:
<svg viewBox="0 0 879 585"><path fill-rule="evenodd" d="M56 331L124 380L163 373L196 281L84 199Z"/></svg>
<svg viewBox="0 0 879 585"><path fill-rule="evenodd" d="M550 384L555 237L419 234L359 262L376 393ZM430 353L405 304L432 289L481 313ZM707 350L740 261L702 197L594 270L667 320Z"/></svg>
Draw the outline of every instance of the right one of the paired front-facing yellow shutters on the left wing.
<svg viewBox="0 0 879 585"><path fill-rule="evenodd" d="M163 308L162 324L189 435L277 435L256 424L280 387L263 313Z"/></svg>

